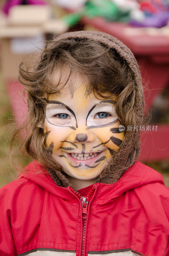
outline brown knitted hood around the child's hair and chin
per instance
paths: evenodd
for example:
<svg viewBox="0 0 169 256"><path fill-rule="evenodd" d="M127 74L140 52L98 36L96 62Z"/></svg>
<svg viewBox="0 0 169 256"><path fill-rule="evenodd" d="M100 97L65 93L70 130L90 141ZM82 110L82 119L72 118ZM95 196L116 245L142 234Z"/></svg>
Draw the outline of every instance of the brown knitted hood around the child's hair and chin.
<svg viewBox="0 0 169 256"><path fill-rule="evenodd" d="M122 59L124 59L129 68L132 70L133 77L135 80L136 91L139 90L141 92L142 99L135 99L135 109L136 109L136 116L138 116L138 123L137 126L139 127L143 119L143 112L144 112L144 96L143 96L143 86L141 81L140 70L136 59L130 49L124 45L121 41L119 41L114 36L108 35L103 32L98 31L76 31L76 32L69 32L58 36L55 41L59 41L61 39L89 39L96 42L99 42L105 46L109 46L110 48L114 49ZM127 127L126 127L127 128ZM124 137L122 144L118 151L112 155L112 161L110 165L101 173L99 177L95 179L96 183L114 183L120 179L121 175L132 165L136 162L136 159L140 155L140 142L139 142L139 130L131 131L127 133ZM72 186L69 180L66 178L64 173L58 171L53 172L48 170L49 174L51 175L52 179L55 180L55 183L58 186Z"/></svg>

